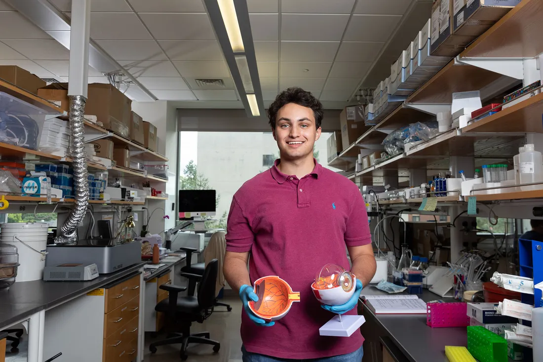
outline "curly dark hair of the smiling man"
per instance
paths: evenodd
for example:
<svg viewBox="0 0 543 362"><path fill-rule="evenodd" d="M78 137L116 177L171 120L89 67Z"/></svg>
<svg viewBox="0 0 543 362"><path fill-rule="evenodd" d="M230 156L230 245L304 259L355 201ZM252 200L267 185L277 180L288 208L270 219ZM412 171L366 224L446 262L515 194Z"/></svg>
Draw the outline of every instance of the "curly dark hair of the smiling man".
<svg viewBox="0 0 543 362"><path fill-rule="evenodd" d="M299 87L285 89L279 93L279 95L275 97L275 101L270 104L268 118L271 128L275 129L277 113L283 105L288 103L296 103L302 107L311 108L313 110L313 115L315 116L315 126L319 129L324 116L323 105L311 94L311 92L305 91Z"/></svg>

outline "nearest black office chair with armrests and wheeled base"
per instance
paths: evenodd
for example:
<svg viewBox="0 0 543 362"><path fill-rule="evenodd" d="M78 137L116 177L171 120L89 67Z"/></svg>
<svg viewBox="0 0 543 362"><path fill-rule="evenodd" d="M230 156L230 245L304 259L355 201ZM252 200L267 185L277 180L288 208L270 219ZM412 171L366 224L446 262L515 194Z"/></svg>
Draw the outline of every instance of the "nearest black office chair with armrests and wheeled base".
<svg viewBox="0 0 543 362"><path fill-rule="evenodd" d="M166 320L169 322L169 329L180 330L181 333L169 334L169 338L154 342L149 346L151 353L156 352L156 347L182 344L179 356L186 360L187 347L190 343L203 343L213 346L213 352L219 352L220 343L210 339L209 332L191 334L192 322L203 323L211 315L215 303L215 283L219 271L218 260L213 259L205 267L203 276L194 273L182 273L181 275L199 281L198 295L194 297L178 297L179 292L187 290L186 286L163 284L160 289L169 292L169 298L156 304L155 310L166 313ZM177 328L176 328L177 327ZM180 328L179 328L180 327Z"/></svg>

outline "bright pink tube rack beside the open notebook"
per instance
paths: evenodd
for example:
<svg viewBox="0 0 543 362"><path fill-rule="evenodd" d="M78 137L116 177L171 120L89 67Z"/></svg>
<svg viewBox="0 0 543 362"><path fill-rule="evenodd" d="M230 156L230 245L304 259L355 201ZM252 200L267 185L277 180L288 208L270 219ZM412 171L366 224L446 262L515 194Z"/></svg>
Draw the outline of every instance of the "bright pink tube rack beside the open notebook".
<svg viewBox="0 0 543 362"><path fill-rule="evenodd" d="M468 327L466 303L426 303L426 324L432 328Z"/></svg>

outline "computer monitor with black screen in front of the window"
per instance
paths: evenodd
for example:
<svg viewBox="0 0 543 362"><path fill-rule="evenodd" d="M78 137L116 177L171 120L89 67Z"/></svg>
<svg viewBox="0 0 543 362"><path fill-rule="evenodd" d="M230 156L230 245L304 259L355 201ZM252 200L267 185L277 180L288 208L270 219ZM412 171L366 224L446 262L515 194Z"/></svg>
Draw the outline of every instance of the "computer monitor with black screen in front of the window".
<svg viewBox="0 0 543 362"><path fill-rule="evenodd" d="M215 190L179 190L179 219L205 219L216 211Z"/></svg>

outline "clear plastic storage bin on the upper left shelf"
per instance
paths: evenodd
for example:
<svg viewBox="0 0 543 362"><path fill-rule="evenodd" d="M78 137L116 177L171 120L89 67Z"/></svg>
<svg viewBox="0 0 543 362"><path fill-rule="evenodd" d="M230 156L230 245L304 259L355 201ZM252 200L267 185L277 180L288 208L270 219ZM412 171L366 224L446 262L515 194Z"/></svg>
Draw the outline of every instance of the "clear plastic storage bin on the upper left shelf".
<svg viewBox="0 0 543 362"><path fill-rule="evenodd" d="M21 99L0 92L0 142L37 149L47 112Z"/></svg>

